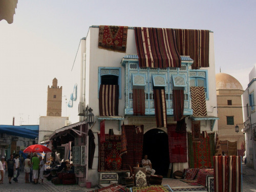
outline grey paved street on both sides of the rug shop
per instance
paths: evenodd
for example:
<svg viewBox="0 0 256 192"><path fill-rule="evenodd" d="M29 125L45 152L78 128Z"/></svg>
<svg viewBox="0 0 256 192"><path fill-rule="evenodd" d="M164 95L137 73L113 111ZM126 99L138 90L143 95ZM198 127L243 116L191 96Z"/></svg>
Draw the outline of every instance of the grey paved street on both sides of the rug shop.
<svg viewBox="0 0 256 192"><path fill-rule="evenodd" d="M243 166L243 192L256 192L256 170ZM18 177L18 183L12 181L12 184L8 183L7 173L5 174L4 184L0 185L0 191L4 192L83 192L90 191L96 188L79 187L78 185L54 185L51 181L44 179L44 184L31 184L25 183L25 173L21 172Z"/></svg>

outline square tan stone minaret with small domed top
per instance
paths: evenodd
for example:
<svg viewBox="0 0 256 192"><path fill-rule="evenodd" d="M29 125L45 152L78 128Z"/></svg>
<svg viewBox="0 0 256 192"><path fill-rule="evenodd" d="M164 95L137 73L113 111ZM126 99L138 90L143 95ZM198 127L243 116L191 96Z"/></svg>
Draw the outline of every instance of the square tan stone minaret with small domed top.
<svg viewBox="0 0 256 192"><path fill-rule="evenodd" d="M52 87L48 86L47 115L61 117L62 86L59 88L58 80L52 80Z"/></svg>

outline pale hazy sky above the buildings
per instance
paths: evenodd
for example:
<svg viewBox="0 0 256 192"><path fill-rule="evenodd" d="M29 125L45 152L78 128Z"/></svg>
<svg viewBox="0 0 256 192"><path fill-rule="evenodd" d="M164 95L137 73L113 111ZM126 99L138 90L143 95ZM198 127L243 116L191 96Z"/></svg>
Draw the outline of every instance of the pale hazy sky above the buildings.
<svg viewBox="0 0 256 192"><path fill-rule="evenodd" d="M87 2L18 1L13 24L0 21L0 124L12 124L12 117L15 125L37 124L54 77L70 95L67 77L92 25L211 30L216 73L221 68L246 89L256 63L256 1Z"/></svg>

